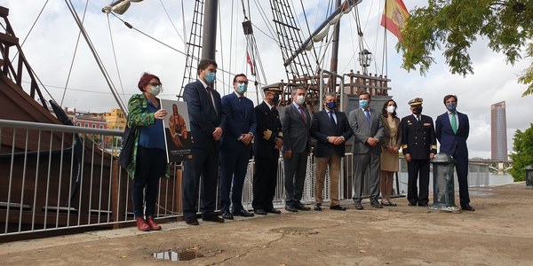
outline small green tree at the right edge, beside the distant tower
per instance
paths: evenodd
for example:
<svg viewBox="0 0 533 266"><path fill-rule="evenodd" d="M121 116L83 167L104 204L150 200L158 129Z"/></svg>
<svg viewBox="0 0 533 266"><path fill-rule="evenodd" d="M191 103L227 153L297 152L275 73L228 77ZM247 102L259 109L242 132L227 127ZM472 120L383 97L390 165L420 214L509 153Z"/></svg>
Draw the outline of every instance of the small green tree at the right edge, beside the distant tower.
<svg viewBox="0 0 533 266"><path fill-rule="evenodd" d="M533 166L533 123L529 124L529 129L516 130L513 137L513 153L510 157L513 160L513 168L509 170L514 181L524 181L526 179L526 166Z"/></svg>

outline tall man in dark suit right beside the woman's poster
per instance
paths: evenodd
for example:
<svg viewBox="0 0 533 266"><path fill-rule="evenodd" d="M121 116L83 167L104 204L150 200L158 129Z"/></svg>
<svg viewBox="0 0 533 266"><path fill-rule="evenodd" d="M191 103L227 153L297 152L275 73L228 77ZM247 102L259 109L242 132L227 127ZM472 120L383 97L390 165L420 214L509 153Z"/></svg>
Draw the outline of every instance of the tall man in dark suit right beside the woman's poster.
<svg viewBox="0 0 533 266"><path fill-rule="evenodd" d="M220 94L212 88L216 73L217 62L201 60L198 64L198 80L188 83L183 93L194 141L193 159L184 162L183 218L185 223L192 225L198 225L196 202L200 177L202 220L224 222L223 218L214 213L219 177L220 137L226 127Z"/></svg>

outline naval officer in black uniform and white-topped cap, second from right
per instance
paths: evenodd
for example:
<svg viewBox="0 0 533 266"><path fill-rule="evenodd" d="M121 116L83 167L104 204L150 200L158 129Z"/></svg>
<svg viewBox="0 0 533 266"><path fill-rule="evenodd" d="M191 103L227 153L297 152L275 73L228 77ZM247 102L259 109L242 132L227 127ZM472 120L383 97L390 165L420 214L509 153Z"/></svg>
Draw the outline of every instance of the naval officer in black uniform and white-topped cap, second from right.
<svg viewBox="0 0 533 266"><path fill-rule="evenodd" d="M429 160L437 153L433 119L422 114L422 98L409 101L412 114L402 118L402 153L407 161L407 200L410 206L429 203ZM418 179L418 175L420 176ZM420 184L418 192L417 180Z"/></svg>

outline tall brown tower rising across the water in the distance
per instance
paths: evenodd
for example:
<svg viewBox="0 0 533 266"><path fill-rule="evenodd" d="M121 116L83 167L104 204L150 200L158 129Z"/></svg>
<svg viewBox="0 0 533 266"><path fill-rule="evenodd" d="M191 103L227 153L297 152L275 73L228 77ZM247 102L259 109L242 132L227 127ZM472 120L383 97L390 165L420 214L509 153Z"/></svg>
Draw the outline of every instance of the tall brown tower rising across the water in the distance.
<svg viewBox="0 0 533 266"><path fill-rule="evenodd" d="M490 153L492 160L508 160L505 101L490 106Z"/></svg>

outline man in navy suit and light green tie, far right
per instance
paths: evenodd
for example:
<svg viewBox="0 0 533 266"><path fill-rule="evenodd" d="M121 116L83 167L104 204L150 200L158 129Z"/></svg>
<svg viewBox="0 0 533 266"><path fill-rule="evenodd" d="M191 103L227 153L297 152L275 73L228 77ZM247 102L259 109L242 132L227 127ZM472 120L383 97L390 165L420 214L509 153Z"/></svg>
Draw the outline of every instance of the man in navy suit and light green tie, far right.
<svg viewBox="0 0 533 266"><path fill-rule="evenodd" d="M441 143L441 153L447 153L455 160L461 208L474 211L474 208L470 206L470 196L468 195L468 147L466 146L466 139L470 132L470 123L465 113L459 113L456 110L457 96L445 96L444 106L448 111L437 117L435 135Z"/></svg>

